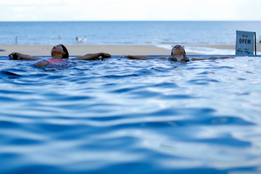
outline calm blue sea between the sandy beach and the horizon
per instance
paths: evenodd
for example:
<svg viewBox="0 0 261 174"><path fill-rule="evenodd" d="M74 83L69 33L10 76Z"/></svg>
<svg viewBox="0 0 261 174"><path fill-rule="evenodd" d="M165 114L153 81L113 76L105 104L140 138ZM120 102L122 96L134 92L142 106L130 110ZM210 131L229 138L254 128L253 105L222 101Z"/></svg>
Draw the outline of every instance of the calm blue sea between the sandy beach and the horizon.
<svg viewBox="0 0 261 174"><path fill-rule="evenodd" d="M147 44L170 49L173 44L235 45L236 30L256 32L258 44L261 21L0 22L0 44L15 44L17 37L17 44L66 45L75 44L76 36L82 41L86 36L87 44ZM186 47L187 52L197 54L235 54L235 50L200 49Z"/></svg>

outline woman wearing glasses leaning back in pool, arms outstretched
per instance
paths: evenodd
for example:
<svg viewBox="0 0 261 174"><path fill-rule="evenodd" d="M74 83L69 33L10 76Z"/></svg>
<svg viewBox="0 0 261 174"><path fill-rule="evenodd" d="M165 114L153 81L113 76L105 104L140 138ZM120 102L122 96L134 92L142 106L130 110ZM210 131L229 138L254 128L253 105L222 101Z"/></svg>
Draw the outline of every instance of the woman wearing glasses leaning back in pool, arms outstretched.
<svg viewBox="0 0 261 174"><path fill-rule="evenodd" d="M224 58L234 58L234 57L208 57L208 58L189 58L186 56L186 52L184 49L184 46L182 45L172 45L171 47L171 56L170 57L148 57L148 56L132 56L132 55L124 55L124 57L130 58L130 59L165 59L169 61L200 61L200 60L212 60L212 59L224 59Z"/></svg>

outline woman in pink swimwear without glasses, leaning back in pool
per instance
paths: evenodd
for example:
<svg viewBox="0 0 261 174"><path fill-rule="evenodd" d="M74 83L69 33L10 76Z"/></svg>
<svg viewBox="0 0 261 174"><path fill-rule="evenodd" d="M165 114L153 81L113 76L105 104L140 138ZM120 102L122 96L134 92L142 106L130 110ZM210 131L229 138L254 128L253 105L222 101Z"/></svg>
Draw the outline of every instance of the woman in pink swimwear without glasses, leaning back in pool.
<svg viewBox="0 0 261 174"><path fill-rule="evenodd" d="M30 55L26 55L26 54L21 54L21 53L16 53L13 52L11 54L9 54L8 56L12 56L14 60L18 59L18 57L20 59L26 59L26 60L36 60L36 59L41 59L40 57L33 57ZM65 59L69 58L69 53L67 48L63 45L56 45L51 49L51 56L52 58L48 58L48 59L42 59L41 61L36 62L34 65L35 67L44 67L48 64L54 64L55 62L64 62ZM72 59L76 59L76 60L90 60L90 59L94 59L94 58L98 58L98 57L102 57L102 58L108 58L111 57L111 54L108 53L96 53L96 54L85 54L84 56L79 56L79 57L74 57Z"/></svg>

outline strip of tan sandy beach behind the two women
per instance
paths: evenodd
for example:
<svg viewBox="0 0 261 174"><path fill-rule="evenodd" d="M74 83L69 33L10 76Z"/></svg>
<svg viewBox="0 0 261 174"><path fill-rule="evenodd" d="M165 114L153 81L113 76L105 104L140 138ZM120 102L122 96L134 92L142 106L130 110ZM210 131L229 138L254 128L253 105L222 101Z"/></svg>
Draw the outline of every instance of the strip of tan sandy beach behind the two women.
<svg viewBox="0 0 261 174"><path fill-rule="evenodd" d="M12 52L29 54L32 56L50 56L54 45L0 45L0 56L8 56ZM218 49L234 49L236 45L184 45L193 47L209 47ZM88 53L105 52L111 55L170 55L170 49L158 48L153 45L65 45L71 56L81 56ZM186 50L186 49L185 49ZM261 51L261 45L256 45L256 50ZM195 55L186 52L187 55Z"/></svg>

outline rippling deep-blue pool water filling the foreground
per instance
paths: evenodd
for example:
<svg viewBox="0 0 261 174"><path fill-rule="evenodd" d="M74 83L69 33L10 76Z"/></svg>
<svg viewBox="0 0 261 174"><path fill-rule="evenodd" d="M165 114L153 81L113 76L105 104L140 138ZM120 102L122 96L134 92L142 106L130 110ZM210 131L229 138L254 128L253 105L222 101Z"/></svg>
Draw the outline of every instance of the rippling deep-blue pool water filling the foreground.
<svg viewBox="0 0 261 174"><path fill-rule="evenodd" d="M35 62L0 57L1 174L261 172L260 56Z"/></svg>

